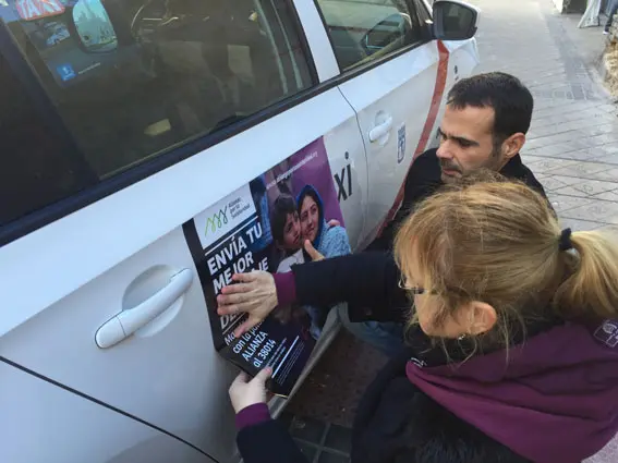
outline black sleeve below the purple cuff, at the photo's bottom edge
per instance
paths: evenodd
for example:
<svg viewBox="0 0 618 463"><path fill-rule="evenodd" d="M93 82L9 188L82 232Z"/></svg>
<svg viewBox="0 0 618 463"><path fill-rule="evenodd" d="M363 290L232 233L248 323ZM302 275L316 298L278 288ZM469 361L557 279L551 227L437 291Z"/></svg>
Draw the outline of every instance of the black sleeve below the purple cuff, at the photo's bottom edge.
<svg viewBox="0 0 618 463"><path fill-rule="evenodd" d="M237 443L244 463L308 463L292 436L275 419L241 429Z"/></svg>

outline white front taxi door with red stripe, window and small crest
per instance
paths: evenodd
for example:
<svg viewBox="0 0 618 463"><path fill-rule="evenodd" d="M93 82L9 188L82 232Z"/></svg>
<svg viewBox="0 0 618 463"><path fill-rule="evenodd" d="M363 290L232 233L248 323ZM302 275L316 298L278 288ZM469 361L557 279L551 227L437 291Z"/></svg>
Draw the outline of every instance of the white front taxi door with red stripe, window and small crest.
<svg viewBox="0 0 618 463"><path fill-rule="evenodd" d="M339 88L356 111L365 141L366 243L400 199L414 157L433 139L452 68L451 49L431 40L422 16L429 20L426 5L419 1L318 0L317 4L339 65L349 75Z"/></svg>

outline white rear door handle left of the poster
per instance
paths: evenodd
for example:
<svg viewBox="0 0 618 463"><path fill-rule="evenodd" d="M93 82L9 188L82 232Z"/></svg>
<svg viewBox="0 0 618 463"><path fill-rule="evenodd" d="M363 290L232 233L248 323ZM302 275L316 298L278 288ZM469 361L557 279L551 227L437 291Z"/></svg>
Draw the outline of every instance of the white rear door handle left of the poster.
<svg viewBox="0 0 618 463"><path fill-rule="evenodd" d="M185 268L173 277L170 282L153 296L133 308L122 310L107 320L95 334L95 341L101 349L111 348L125 338L129 338L144 325L153 321L166 312L193 282L193 271Z"/></svg>

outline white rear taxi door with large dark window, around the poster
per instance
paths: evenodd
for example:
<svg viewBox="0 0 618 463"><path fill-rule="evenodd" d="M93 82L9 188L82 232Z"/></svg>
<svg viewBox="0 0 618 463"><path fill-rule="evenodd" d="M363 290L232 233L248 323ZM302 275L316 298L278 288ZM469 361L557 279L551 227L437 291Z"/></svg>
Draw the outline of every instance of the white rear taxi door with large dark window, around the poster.
<svg viewBox="0 0 618 463"><path fill-rule="evenodd" d="M0 25L10 153L0 188L12 198L0 205L0 356L233 461L227 389L237 369L213 346L182 224L320 141L348 234L360 240L364 145L339 89L319 85L338 73L319 48L319 16L299 8L314 25L305 39L286 1L88 0L34 22L13 7ZM47 40L59 27L69 37ZM66 423L94 450L116 436L95 416ZM11 461L37 463L25 452Z"/></svg>

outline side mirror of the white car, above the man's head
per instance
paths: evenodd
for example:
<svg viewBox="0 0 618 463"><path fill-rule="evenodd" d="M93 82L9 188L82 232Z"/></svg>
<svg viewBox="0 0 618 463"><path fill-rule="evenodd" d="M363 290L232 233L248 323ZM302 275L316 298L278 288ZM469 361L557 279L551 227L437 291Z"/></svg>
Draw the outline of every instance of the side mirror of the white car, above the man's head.
<svg viewBox="0 0 618 463"><path fill-rule="evenodd" d="M480 10L457 0L434 3L433 35L438 40L468 40L474 37Z"/></svg>

